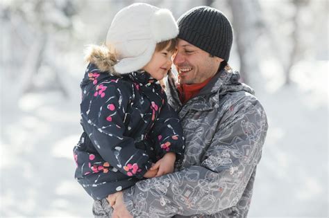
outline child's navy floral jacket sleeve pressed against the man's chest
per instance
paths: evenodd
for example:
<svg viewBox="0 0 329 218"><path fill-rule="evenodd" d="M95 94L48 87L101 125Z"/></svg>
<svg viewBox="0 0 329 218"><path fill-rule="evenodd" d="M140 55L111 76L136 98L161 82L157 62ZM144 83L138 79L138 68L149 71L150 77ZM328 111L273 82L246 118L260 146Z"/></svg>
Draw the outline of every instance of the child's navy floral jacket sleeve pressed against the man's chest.
<svg viewBox="0 0 329 218"><path fill-rule="evenodd" d="M183 157L183 129L178 114L168 105L167 100L155 120L151 138L155 143L155 152L160 158L167 152L176 153L176 160Z"/></svg>

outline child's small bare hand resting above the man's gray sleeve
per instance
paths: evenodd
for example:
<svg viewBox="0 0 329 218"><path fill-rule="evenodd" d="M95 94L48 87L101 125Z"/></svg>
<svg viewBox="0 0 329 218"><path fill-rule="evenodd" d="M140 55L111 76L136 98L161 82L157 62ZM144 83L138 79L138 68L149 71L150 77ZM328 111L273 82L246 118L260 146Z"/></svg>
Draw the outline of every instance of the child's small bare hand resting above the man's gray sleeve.
<svg viewBox="0 0 329 218"><path fill-rule="evenodd" d="M151 167L150 170L158 170L156 176L162 176L174 172L174 165L176 161L176 154L174 152L168 152L159 161Z"/></svg>

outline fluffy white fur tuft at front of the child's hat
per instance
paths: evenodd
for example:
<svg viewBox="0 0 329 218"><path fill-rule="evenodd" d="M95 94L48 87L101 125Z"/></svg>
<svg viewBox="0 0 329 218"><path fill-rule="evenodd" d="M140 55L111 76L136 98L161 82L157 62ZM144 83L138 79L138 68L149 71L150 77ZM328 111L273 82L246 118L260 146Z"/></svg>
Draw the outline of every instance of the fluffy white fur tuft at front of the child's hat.
<svg viewBox="0 0 329 218"><path fill-rule="evenodd" d="M178 35L178 26L168 9L159 9L151 18L151 32L155 42L173 39Z"/></svg>

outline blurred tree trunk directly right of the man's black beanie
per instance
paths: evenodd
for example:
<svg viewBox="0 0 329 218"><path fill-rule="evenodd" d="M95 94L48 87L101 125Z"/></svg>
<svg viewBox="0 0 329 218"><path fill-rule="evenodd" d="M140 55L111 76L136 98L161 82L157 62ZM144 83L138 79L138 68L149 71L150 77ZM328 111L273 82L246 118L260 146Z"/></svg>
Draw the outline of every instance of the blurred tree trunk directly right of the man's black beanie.
<svg viewBox="0 0 329 218"><path fill-rule="evenodd" d="M255 44L262 24L260 5L258 0L228 0L228 5L233 14L233 29L242 82L255 86L261 82L257 44Z"/></svg>

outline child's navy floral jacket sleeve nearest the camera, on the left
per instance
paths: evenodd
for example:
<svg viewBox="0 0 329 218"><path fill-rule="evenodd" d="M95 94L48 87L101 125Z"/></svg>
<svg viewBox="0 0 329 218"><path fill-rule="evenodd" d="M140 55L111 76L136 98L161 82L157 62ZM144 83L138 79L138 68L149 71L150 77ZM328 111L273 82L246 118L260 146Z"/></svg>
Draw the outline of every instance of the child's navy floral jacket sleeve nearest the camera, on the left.
<svg viewBox="0 0 329 218"><path fill-rule="evenodd" d="M103 160L127 176L142 178L151 167L149 156L124 136L125 113L131 91L125 84L99 84L91 99L81 103L85 132Z"/></svg>

